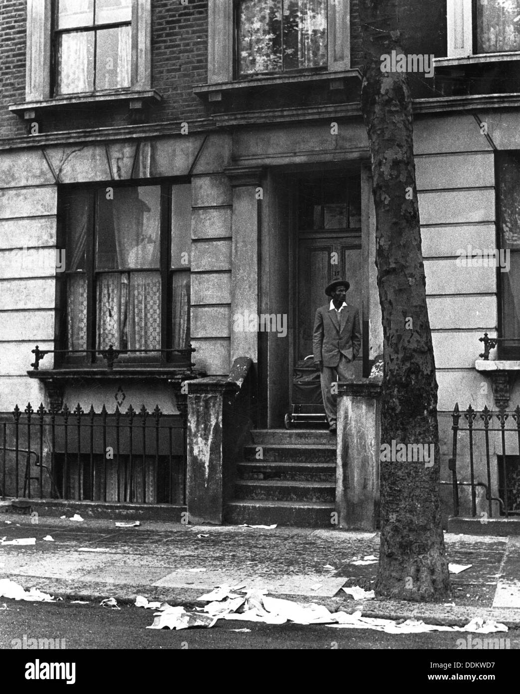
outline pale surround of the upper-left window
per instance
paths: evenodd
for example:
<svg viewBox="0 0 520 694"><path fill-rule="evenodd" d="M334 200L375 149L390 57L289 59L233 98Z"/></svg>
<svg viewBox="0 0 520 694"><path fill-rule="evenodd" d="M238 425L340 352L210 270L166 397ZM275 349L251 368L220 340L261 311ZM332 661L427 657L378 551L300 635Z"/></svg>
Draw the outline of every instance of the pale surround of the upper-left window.
<svg viewBox="0 0 520 694"><path fill-rule="evenodd" d="M60 101L67 97L53 95L55 59L53 57L54 0L27 0L26 103ZM130 87L71 94L74 101L103 94L129 96L132 92L151 90L151 0L132 0L132 57ZM14 110L14 109L12 109Z"/></svg>

